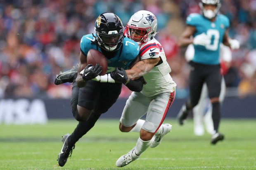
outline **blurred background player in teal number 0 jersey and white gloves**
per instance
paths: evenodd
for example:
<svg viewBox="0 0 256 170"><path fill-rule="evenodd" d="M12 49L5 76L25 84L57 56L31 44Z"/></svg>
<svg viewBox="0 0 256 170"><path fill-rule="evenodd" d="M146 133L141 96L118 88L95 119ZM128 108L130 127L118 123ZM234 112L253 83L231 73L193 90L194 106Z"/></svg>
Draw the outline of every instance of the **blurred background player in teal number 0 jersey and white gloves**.
<svg viewBox="0 0 256 170"><path fill-rule="evenodd" d="M201 89L206 82L209 98L212 103L212 118L214 131L211 143L216 144L224 139L224 135L218 133L220 123L220 43L239 48L237 40L228 37L229 20L226 16L218 14L220 9L219 0L201 0L199 3L202 14L190 14L187 17L187 27L180 36L178 45L187 47L194 45L195 54L191 61L191 72L189 79L190 100L181 108L178 119L182 125L191 109L197 105ZM194 38L192 38L192 36Z"/></svg>

